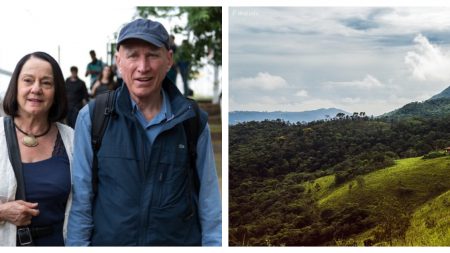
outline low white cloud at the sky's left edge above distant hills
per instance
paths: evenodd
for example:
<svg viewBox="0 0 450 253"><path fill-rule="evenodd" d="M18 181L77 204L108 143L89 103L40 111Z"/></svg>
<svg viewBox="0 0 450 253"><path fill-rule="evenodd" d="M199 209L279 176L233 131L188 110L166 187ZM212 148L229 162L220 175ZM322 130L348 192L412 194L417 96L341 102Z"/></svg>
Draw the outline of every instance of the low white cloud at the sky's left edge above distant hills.
<svg viewBox="0 0 450 253"><path fill-rule="evenodd" d="M255 77L243 77L231 80L234 89L257 89L265 91L273 91L288 87L286 80L280 76L273 76L269 73L258 73Z"/></svg>

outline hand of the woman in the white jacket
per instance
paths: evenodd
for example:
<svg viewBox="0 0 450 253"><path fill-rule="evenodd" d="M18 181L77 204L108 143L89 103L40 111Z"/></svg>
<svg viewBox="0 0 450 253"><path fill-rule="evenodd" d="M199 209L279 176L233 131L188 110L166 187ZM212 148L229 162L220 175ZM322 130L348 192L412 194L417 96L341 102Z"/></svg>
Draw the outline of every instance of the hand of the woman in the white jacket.
<svg viewBox="0 0 450 253"><path fill-rule="evenodd" d="M0 220L8 221L16 226L26 226L31 218L39 215L38 203L23 200L10 201L0 204Z"/></svg>

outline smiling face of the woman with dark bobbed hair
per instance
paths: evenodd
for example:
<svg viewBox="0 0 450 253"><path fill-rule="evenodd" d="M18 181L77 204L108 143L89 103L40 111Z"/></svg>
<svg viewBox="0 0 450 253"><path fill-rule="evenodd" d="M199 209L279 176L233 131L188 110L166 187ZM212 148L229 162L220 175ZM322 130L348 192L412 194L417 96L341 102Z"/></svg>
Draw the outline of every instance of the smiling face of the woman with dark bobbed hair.
<svg viewBox="0 0 450 253"><path fill-rule="evenodd" d="M17 80L20 116L47 117L55 96L55 79L49 62L31 57Z"/></svg>

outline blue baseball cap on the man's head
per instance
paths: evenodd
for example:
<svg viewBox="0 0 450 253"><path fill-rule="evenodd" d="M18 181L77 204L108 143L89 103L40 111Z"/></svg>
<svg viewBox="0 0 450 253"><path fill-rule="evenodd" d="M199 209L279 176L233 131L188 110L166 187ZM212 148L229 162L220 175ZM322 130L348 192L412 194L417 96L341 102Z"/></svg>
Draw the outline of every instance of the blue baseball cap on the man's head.
<svg viewBox="0 0 450 253"><path fill-rule="evenodd" d="M126 24L119 33L117 50L127 39L140 39L157 47L169 49L169 34L164 26L150 19L136 19Z"/></svg>

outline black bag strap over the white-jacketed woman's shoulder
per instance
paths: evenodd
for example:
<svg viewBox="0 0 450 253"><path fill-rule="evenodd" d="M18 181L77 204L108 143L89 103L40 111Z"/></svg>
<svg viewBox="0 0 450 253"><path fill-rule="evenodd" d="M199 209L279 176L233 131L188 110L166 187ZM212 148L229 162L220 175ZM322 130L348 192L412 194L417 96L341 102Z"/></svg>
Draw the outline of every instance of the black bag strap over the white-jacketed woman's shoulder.
<svg viewBox="0 0 450 253"><path fill-rule="evenodd" d="M9 160L11 161L14 169L14 175L17 180L16 199L25 200L25 183L23 182L22 160L20 159L19 143L17 142L14 121L11 117L5 117L3 119Z"/></svg>

